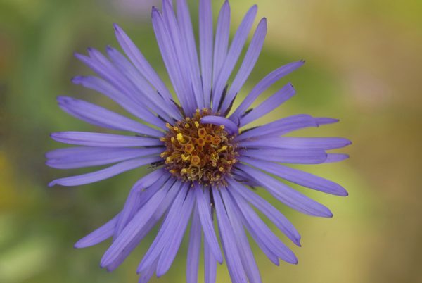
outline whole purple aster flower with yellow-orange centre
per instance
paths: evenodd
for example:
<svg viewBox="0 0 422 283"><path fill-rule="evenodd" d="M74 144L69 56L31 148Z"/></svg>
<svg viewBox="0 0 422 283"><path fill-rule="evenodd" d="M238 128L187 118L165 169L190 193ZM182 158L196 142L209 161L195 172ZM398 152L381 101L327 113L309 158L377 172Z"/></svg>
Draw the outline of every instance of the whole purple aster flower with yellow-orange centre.
<svg viewBox="0 0 422 283"><path fill-rule="evenodd" d="M177 0L176 12L171 1L164 0L162 11L153 8L152 21L179 102L118 25L115 34L126 56L112 47L106 50L108 56L95 49L88 49L89 56L76 54L98 77L75 77L73 82L108 96L143 122L86 101L58 97L59 106L70 115L131 134L51 134L57 142L77 146L47 153L49 166L60 169L109 166L54 180L50 186L89 184L149 166L151 172L134 184L120 213L77 241L75 247L93 246L112 238L101 266L114 270L161 223L137 269L141 274L139 282L147 282L154 273L159 277L169 270L191 222L187 282L198 280L201 243L205 282L216 281L217 263L223 260L233 282L261 282L246 232L272 263L279 265L281 259L295 264L298 260L254 207L298 246L300 234L279 210L251 188L267 190L286 206L307 215L331 217L326 206L281 180L346 196L347 191L339 184L286 164L342 161L347 155L327 151L347 146L350 141L340 137L285 137L295 130L338 121L310 115L293 115L267 125L248 127L250 122L295 94L289 83L257 107L250 108L258 96L304 61L283 65L265 76L231 110L236 94L241 92L260 55L267 32L267 21L262 18L238 72L229 82L255 20L257 6L246 13L229 44L229 2L224 2L219 11L214 36L210 0L200 0L199 52L186 0Z"/></svg>

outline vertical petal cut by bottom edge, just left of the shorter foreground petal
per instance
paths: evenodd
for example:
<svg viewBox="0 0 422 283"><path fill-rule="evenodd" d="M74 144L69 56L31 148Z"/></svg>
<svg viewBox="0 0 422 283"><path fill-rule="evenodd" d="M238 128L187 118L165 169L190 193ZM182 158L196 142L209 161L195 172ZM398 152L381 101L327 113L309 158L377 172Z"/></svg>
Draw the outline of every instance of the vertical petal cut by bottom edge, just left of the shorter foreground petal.
<svg viewBox="0 0 422 283"><path fill-rule="evenodd" d="M193 210L191 232L189 235L188 256L186 258L186 282L198 283L198 268L200 256L200 242L202 230L200 227L200 219L198 208Z"/></svg>

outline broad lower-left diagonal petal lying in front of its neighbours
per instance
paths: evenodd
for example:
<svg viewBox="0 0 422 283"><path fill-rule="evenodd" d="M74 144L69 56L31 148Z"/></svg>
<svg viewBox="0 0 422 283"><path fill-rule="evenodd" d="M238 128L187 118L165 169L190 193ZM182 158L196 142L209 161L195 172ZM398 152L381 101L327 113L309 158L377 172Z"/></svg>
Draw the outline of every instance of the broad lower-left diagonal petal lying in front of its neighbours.
<svg viewBox="0 0 422 283"><path fill-rule="evenodd" d="M134 218L124 227L120 236L113 241L113 244L111 244L106 253L104 253L103 258L101 259L101 266L105 267L112 263L127 247L130 241L134 239L136 234L148 224L148 221L151 219L158 206L160 206L160 203L162 203L166 194L167 191L161 189L145 204L145 206L139 209Z"/></svg>

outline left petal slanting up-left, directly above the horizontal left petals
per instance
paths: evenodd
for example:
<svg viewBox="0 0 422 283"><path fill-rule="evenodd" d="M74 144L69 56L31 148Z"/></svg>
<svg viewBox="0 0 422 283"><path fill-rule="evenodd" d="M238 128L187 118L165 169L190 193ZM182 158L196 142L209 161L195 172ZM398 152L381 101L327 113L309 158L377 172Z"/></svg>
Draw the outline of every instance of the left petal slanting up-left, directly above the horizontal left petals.
<svg viewBox="0 0 422 283"><path fill-rule="evenodd" d="M73 99L68 96L58 96L57 101L60 108L70 113L70 115L75 115L77 118L86 120L87 122L92 121L94 125L98 125L99 123L110 129L136 132L152 137L162 137L162 132L158 130L92 103Z"/></svg>

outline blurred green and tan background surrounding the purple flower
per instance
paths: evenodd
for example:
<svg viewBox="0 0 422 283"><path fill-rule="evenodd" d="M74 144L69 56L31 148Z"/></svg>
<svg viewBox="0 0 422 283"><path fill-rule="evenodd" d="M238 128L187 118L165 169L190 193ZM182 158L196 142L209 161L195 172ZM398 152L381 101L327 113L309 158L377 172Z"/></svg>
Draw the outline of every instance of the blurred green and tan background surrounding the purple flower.
<svg viewBox="0 0 422 283"><path fill-rule="evenodd" d="M197 1L190 2L196 11ZM222 1L213 4L216 16ZM269 32L239 96L279 65L304 58L305 66L260 101L288 81L297 96L260 122L297 113L331 116L341 122L300 134L354 142L344 150L350 160L300 167L348 189L347 198L306 191L334 218L311 218L271 201L295 223L302 248L293 247L299 265L276 267L254 246L264 282L422 282L422 2L232 0L232 34L252 4L267 17ZM99 268L108 242L83 250L72 245L122 208L144 170L47 188L57 177L87 170L46 168L44 152L60 146L49 132L101 130L60 111L57 95L118 111L70 82L91 73L74 51L117 46L113 22L168 82L149 20L153 5L160 6L154 0L0 0L1 283L136 282L153 234L113 273ZM170 272L153 282L184 282L186 249L185 239ZM200 282L202 274L201 267ZM225 267L217 278L229 282Z"/></svg>

